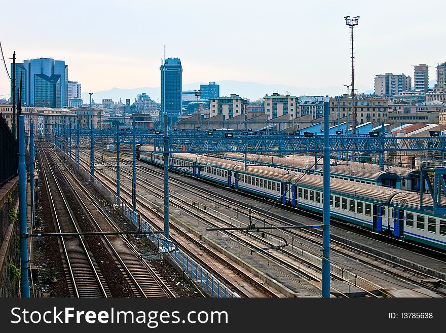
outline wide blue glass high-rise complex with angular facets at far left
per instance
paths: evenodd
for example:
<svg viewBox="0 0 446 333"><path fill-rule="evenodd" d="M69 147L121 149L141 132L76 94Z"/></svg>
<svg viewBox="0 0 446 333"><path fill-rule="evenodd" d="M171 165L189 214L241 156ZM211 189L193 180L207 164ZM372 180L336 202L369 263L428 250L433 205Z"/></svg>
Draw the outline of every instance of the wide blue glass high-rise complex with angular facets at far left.
<svg viewBox="0 0 446 333"><path fill-rule="evenodd" d="M20 86L20 72L23 73L22 85L24 85L22 87L22 105L68 106L68 65L65 65L65 61L39 58L24 60L23 63L16 63L16 78L18 74L16 87ZM40 87L40 84L43 86ZM51 98L53 99L51 100ZM57 100L54 98L57 98ZM44 103L45 105L40 103Z"/></svg>

